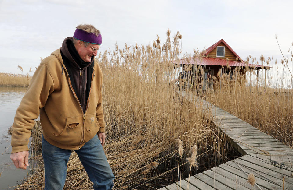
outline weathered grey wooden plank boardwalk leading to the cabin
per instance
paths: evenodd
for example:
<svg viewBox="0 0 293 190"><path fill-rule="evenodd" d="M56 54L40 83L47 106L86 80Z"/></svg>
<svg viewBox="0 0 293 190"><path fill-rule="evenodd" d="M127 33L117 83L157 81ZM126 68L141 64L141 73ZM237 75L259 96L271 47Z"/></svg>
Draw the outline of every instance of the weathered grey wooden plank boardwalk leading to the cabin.
<svg viewBox="0 0 293 190"><path fill-rule="evenodd" d="M246 183L249 173L256 178L257 185L252 189L282 190L284 178L284 189L293 190L293 149L199 97L185 91L178 94L196 102L203 111L211 111L212 121L230 138L232 146L244 155L191 176L190 190L248 190L251 189ZM187 189L187 181L188 178L181 181L181 189ZM160 190L177 190L176 184Z"/></svg>

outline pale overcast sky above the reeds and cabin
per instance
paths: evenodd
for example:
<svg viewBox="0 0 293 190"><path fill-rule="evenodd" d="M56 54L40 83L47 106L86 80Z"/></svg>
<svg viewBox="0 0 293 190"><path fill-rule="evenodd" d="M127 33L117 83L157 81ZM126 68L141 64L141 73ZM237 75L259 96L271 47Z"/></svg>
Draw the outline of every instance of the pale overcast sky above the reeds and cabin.
<svg viewBox="0 0 293 190"><path fill-rule="evenodd" d="M113 50L115 42L118 48L152 44L157 34L162 43L169 28L171 36L182 34L183 53L223 38L244 60L249 55L259 60L263 54L280 61L275 35L287 57L293 42L292 7L290 0L0 0L0 72L21 73L17 65L24 74L31 66L34 71L40 57L61 47L78 24L101 31L102 52Z"/></svg>

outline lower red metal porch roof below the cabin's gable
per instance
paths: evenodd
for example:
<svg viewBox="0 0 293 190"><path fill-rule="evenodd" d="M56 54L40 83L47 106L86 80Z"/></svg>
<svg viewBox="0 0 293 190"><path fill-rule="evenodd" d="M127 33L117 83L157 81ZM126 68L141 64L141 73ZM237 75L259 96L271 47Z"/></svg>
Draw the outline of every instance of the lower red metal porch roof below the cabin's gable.
<svg viewBox="0 0 293 190"><path fill-rule="evenodd" d="M225 59L219 59L219 58L185 58L180 59L179 64L191 64L191 65L217 65L217 66L226 66L227 61ZM229 66L239 66L239 67L254 67L255 69L269 69L271 66L265 66L265 65L255 65L255 64L246 64L244 62L238 62L238 61L228 61Z"/></svg>

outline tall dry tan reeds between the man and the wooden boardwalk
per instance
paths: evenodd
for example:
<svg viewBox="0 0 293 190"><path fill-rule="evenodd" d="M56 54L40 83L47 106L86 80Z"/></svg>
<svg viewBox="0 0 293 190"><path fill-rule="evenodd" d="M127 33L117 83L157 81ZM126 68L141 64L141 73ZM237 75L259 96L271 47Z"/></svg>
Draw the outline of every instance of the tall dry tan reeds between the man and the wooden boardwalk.
<svg viewBox="0 0 293 190"><path fill-rule="evenodd" d="M103 70L103 108L106 121L104 150L116 176L114 189L155 189L188 177L192 146L197 145L198 168L191 174L234 159L237 153L226 137L201 109L181 99L172 83L176 73L173 60L179 59L179 32L172 41L170 31L161 44L159 37L147 46L117 44L113 51L100 53ZM35 127L35 129L39 128ZM41 130L32 132L34 147ZM178 162L175 139L183 143L182 162ZM41 156L37 157L40 158ZM181 171L178 171L178 168ZM16 189L42 189L43 165ZM67 165L64 189L88 189L92 183L73 152Z"/></svg>

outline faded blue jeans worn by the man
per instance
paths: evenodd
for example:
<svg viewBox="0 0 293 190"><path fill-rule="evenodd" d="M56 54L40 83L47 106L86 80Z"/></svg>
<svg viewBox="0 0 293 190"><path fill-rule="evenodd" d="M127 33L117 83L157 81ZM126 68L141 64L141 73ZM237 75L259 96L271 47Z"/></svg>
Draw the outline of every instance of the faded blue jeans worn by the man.
<svg viewBox="0 0 293 190"><path fill-rule="evenodd" d="M115 179L97 135L79 150L75 150L94 190L110 190ZM67 173L67 162L71 150L60 149L51 145L42 137L42 155L45 168L44 190L62 190Z"/></svg>

